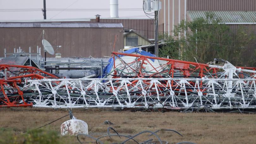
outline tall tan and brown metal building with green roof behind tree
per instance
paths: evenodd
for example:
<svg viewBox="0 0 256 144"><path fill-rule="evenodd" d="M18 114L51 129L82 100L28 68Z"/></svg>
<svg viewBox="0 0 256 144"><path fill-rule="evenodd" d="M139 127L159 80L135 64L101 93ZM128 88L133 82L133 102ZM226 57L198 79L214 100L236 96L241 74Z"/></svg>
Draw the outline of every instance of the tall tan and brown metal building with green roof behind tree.
<svg viewBox="0 0 256 144"><path fill-rule="evenodd" d="M159 12L159 32L166 32L172 35L172 30L175 25L178 25L182 20L192 20L192 14L203 16L202 11L214 11L219 14L217 16L225 19L225 24L228 24L233 31L243 25L248 28L248 31L256 32L255 15L251 15L252 12L249 13L249 11L254 11L254 13L256 11L255 0L161 1L162 9ZM229 12L227 13L227 11ZM243 15L239 14L241 11L243 11Z"/></svg>

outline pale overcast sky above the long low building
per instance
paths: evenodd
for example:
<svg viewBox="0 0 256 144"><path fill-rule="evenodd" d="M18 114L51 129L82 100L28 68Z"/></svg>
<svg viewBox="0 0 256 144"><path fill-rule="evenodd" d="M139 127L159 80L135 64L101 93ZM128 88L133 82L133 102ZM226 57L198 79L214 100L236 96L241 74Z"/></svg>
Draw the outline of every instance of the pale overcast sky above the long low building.
<svg viewBox="0 0 256 144"><path fill-rule="evenodd" d="M142 9L142 5L143 0L119 0L119 9ZM0 20L43 19L42 8L43 0L0 0ZM109 0L46 0L47 9L109 9ZM46 11L46 18L90 18L96 14L101 17L110 17L109 11ZM146 18L143 10L119 11L119 17Z"/></svg>

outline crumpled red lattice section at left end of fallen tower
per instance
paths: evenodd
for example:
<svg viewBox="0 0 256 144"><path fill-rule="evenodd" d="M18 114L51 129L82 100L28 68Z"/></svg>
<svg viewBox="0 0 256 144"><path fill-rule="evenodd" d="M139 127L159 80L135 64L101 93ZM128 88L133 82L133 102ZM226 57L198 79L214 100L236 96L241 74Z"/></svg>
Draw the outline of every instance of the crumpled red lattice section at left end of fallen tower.
<svg viewBox="0 0 256 144"><path fill-rule="evenodd" d="M58 78L31 66L2 64L0 70L7 77L6 79L4 77L0 78L0 93L2 93L2 96L0 94L0 107L32 106L33 103L25 101L23 91L19 85L23 85L26 79Z"/></svg>

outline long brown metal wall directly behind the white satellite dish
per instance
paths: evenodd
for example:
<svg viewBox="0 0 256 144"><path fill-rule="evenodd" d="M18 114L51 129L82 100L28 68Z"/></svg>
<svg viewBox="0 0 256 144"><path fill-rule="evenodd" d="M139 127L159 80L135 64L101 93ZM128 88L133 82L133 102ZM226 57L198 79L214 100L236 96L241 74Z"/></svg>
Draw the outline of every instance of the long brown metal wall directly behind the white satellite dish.
<svg viewBox="0 0 256 144"><path fill-rule="evenodd" d="M13 48L21 46L22 50L36 52L36 45L41 48L42 30L52 46L62 45L56 53L62 57L100 58L110 56L113 51L115 35L117 42L115 51L123 48L123 28L0 28L0 57L4 57L4 48L13 52ZM43 54L43 48L41 50ZM44 55L44 54L43 54ZM47 54L47 57L54 57Z"/></svg>

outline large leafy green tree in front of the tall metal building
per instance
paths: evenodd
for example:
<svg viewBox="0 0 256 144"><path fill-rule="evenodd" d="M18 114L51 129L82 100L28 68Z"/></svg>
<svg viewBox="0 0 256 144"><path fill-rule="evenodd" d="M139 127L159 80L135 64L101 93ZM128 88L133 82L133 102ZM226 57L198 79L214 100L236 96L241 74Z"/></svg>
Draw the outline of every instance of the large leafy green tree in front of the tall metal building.
<svg viewBox="0 0 256 144"><path fill-rule="evenodd" d="M160 38L166 45L159 50L160 56L186 61L195 61L196 58L199 63L222 58L234 65L255 64L253 56L254 60L251 62L244 61L242 57L249 46L248 43L255 40L253 34L248 34L244 27L233 33L229 26L223 24L222 19L217 18L212 12L206 12L205 16L206 19L181 21L174 27L174 37L163 34Z"/></svg>

